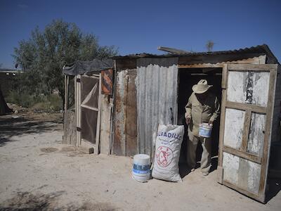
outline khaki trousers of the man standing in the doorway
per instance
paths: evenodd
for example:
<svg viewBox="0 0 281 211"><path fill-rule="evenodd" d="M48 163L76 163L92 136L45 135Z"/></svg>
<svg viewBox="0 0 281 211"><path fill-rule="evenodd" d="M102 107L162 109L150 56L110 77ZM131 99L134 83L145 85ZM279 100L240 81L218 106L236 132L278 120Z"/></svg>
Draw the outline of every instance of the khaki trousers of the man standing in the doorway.
<svg viewBox="0 0 281 211"><path fill-rule="evenodd" d="M188 128L188 165L190 168L195 168L196 166L196 148L197 144L200 142L203 148L201 155L201 171L209 172L211 168L211 138L204 138L200 136L195 136L192 134Z"/></svg>

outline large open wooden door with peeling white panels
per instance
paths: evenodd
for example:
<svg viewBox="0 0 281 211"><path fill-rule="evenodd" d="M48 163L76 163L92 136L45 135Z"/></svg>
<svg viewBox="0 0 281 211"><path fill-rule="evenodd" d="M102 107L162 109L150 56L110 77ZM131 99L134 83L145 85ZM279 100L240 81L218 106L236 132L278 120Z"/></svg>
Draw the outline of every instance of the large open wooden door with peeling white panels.
<svg viewBox="0 0 281 211"><path fill-rule="evenodd" d="M265 201L277 65L224 65L218 182Z"/></svg>

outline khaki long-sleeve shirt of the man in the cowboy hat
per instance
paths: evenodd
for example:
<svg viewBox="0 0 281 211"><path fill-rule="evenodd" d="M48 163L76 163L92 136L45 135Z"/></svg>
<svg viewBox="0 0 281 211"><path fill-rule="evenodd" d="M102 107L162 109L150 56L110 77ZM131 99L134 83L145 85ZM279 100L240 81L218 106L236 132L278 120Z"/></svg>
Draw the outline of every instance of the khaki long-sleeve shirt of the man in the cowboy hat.
<svg viewBox="0 0 281 211"><path fill-rule="evenodd" d="M200 103L193 92L185 106L185 119L190 118L189 128L193 135L199 135L199 125L203 122L214 122L219 115L220 103L214 94L209 93L205 102Z"/></svg>

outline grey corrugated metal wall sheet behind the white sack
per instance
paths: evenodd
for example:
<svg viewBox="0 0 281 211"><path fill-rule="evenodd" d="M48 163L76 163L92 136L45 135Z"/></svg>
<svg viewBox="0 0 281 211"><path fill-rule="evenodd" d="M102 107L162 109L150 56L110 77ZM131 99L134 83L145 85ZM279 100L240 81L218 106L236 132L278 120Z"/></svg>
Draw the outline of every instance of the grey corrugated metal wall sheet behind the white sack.
<svg viewBox="0 0 281 211"><path fill-rule="evenodd" d="M137 61L138 153L152 155L158 124L176 124L178 58Z"/></svg>

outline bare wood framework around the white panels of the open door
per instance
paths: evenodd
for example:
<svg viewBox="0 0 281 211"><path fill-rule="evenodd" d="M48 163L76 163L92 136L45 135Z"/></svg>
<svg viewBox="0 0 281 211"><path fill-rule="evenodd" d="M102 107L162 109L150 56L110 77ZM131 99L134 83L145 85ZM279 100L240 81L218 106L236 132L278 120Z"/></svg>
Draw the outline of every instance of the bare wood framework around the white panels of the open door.
<svg viewBox="0 0 281 211"><path fill-rule="evenodd" d="M269 78L269 89L268 89L268 101L266 107L254 106L246 103L234 103L227 101L227 87L228 87L228 72L229 71L262 71L270 72ZM240 193L243 193L251 198L261 201L265 201L265 190L266 190L266 179L268 174L268 161L270 154L270 142L271 142L271 127L272 127L272 118L273 118L273 105L275 100L275 83L277 77L277 65L250 65L250 64L226 64L223 65L223 77L221 82L222 88L222 98L221 98L221 124L220 124L220 135L218 143L218 182L226 185L230 188L233 188ZM236 108L239 110L245 111L244 119L244 128L242 135L241 148L239 150L226 147L223 145L223 136L225 129L225 120L226 120L226 108ZM251 123L251 112L263 113L266 114L266 128L264 135L263 143L263 155L260 158L257 155L247 153L247 141L249 136L249 124ZM223 180L223 152L236 155L240 158L250 160L252 162L259 163L261 165L261 176L259 184L259 193L251 193L244 188L241 188L235 184L230 183L229 181Z"/></svg>

